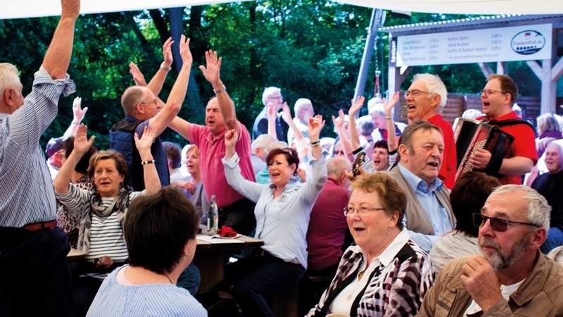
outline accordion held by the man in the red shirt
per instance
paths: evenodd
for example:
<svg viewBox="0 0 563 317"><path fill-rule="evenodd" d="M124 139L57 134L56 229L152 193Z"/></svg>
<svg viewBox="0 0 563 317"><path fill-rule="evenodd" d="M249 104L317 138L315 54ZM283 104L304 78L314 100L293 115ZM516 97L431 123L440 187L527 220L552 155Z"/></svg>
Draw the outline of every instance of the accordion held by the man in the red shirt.
<svg viewBox="0 0 563 317"><path fill-rule="evenodd" d="M455 180L459 179L464 173L473 170L469 158L477 149L486 149L491 152L491 161L489 161L486 169L481 170L481 172L497 176L502 159L514 142L514 137L494 125L465 118L456 118L453 129L457 154Z"/></svg>

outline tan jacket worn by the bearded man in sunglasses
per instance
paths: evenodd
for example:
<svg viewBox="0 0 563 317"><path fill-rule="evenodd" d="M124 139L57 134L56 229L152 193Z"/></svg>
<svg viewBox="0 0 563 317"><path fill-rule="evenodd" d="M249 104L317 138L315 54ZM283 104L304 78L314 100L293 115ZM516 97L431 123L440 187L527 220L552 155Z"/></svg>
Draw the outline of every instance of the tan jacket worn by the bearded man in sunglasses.
<svg viewBox="0 0 563 317"><path fill-rule="evenodd" d="M417 316L462 317L472 301L460 275L467 257L446 264L422 302ZM485 316L563 316L563 266L543 254L510 300L500 301Z"/></svg>

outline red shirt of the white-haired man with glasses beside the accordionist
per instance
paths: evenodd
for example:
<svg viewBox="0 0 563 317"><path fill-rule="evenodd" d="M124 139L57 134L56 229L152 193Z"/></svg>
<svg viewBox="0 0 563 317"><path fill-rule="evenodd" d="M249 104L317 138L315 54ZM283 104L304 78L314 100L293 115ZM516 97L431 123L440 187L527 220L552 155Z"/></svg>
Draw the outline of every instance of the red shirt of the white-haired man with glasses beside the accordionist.
<svg viewBox="0 0 563 317"><path fill-rule="evenodd" d="M455 170L457 168L457 156L455 154L455 140L453 138L452 125L444 120L440 113L429 118L428 122L438 126L438 128L442 130L444 137L444 155L438 178L444 182L445 187L452 189L455 184Z"/></svg>

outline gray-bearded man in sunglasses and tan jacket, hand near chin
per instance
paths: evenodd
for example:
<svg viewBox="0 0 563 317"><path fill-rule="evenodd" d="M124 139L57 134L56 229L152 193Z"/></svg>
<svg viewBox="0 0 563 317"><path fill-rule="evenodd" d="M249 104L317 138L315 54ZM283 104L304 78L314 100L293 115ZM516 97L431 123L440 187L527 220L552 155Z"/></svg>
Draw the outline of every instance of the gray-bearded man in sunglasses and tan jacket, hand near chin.
<svg viewBox="0 0 563 317"><path fill-rule="evenodd" d="M473 215L481 255L446 264L417 316L562 316L563 266L539 251L550 209L529 187L495 189Z"/></svg>

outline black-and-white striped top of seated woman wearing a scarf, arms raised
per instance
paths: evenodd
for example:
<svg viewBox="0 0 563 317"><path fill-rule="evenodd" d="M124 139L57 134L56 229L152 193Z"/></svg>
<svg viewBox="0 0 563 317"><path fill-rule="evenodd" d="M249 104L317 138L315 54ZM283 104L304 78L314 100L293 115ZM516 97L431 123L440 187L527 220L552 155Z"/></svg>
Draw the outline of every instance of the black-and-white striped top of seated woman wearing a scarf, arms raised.
<svg viewBox="0 0 563 317"><path fill-rule="evenodd" d="M91 215L90 244L86 259L94 260L101 256L109 256L113 261L125 261L129 255L117 213L113 212L107 217L93 213L90 206L91 194L92 191L81 189L74 184L70 184L68 192L65 194L56 192L57 198L68 209L69 213L80 215L80 218L83 218L86 213ZM143 194L144 191L132 192L128 197L129 202ZM110 207L114 199L115 197L102 197L101 208L107 209Z"/></svg>

